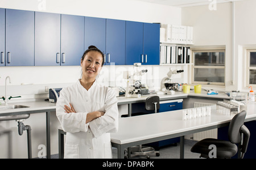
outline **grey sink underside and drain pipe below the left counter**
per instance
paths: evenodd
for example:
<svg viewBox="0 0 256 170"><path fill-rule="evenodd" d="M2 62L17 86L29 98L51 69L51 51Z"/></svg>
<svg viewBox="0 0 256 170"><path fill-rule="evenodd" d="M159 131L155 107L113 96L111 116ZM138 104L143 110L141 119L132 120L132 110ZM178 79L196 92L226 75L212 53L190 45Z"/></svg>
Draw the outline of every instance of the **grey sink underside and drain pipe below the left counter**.
<svg viewBox="0 0 256 170"><path fill-rule="evenodd" d="M32 150L31 150L31 127L29 125L24 125L23 120L30 117L30 114L20 114L20 115L7 115L0 116L0 121L17 121L18 122L18 132L19 135L23 134L23 131L27 131L27 150L28 150L28 158L32 158Z"/></svg>

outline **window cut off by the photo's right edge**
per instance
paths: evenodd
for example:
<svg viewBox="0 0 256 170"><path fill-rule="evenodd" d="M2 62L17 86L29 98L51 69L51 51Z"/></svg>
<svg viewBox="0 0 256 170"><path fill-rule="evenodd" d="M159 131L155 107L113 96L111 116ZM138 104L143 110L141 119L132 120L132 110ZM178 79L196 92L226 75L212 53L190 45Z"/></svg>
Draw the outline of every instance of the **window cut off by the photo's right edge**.
<svg viewBox="0 0 256 170"><path fill-rule="evenodd" d="M247 49L247 86L256 87L256 49Z"/></svg>

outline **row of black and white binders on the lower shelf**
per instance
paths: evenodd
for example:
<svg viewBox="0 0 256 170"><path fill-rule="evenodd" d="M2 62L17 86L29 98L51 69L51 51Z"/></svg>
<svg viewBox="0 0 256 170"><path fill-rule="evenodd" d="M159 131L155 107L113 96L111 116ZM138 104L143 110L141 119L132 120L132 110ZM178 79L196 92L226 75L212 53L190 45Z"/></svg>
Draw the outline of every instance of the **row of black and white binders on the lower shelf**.
<svg viewBox="0 0 256 170"><path fill-rule="evenodd" d="M190 62L190 47L160 46L161 64L185 64Z"/></svg>

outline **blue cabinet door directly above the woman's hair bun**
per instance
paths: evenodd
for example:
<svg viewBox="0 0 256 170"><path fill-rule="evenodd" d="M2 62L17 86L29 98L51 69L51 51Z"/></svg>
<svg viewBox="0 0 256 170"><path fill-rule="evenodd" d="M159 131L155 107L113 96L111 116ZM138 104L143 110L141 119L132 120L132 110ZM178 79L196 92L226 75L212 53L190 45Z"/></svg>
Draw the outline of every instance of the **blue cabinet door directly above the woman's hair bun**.
<svg viewBox="0 0 256 170"><path fill-rule="evenodd" d="M96 46L100 51L106 51L106 19L85 16L84 49L90 45Z"/></svg>

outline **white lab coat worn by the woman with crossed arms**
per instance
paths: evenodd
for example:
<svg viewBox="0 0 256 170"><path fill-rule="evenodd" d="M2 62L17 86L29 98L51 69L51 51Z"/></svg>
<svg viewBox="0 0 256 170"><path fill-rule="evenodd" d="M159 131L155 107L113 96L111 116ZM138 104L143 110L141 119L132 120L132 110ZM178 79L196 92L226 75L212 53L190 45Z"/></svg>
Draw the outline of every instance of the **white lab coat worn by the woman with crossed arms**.
<svg viewBox="0 0 256 170"><path fill-rule="evenodd" d="M69 102L76 113L65 113L64 105L69 106ZM85 123L87 113L92 111L105 111L105 114ZM56 115L67 132L64 158L112 158L109 132L118 130L117 98L113 89L96 80L87 91L77 81L60 91Z"/></svg>

